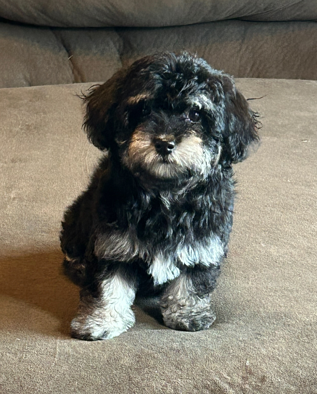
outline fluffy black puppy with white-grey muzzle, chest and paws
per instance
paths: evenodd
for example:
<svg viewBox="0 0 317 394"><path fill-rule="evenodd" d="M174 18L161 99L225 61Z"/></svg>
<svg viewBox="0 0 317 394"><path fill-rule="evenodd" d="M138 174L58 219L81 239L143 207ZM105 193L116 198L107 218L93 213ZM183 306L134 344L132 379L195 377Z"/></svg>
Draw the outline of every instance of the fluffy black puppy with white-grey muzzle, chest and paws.
<svg viewBox="0 0 317 394"><path fill-rule="evenodd" d="M232 227L232 164L259 140L232 78L182 53L146 56L84 97L88 139L105 151L62 223L81 301L71 334L113 338L135 323L137 291L164 323L208 329L210 294Z"/></svg>

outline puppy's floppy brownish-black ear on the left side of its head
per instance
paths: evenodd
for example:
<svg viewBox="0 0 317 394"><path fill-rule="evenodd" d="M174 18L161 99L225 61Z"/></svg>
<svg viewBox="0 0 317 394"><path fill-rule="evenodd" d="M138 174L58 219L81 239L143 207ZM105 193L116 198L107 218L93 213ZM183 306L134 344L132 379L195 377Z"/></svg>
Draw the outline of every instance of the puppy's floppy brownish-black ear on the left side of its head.
<svg viewBox="0 0 317 394"><path fill-rule="evenodd" d="M88 139L101 151L109 149L114 139L114 111L118 105L125 72L119 70L103 85L94 85L83 94L86 115L83 128Z"/></svg>

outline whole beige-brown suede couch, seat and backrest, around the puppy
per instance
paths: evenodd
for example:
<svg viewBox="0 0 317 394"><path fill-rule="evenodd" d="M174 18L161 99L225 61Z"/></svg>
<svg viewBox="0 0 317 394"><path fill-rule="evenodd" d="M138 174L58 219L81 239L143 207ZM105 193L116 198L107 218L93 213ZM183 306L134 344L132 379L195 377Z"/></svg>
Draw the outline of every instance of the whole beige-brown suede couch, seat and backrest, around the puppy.
<svg viewBox="0 0 317 394"><path fill-rule="evenodd" d="M317 393L317 6L275 3L0 0L0 393ZM73 339L60 222L100 157L77 94L183 49L262 97L261 145L234 167L217 320L174 331L140 298L126 333Z"/></svg>

